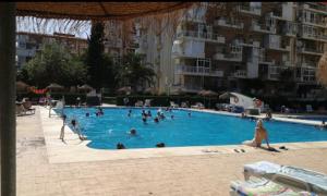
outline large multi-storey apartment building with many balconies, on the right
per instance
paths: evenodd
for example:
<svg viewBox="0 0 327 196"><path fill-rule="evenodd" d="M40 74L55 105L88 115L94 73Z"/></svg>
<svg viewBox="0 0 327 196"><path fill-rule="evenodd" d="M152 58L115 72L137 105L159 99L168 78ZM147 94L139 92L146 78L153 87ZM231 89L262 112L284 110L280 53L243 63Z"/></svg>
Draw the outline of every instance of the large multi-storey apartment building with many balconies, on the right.
<svg viewBox="0 0 327 196"><path fill-rule="evenodd" d="M316 85L316 66L327 41L326 4L242 2L234 19L217 15L210 23L206 5L187 12L172 41L161 40L172 46L171 53L159 50L165 59L160 66L169 68L159 74L171 85L167 88L167 79L158 81L158 93L242 89L253 79L264 81L267 90L276 91L286 70L296 88ZM143 39L147 46L156 42L148 32ZM137 51L153 56L142 45Z"/></svg>

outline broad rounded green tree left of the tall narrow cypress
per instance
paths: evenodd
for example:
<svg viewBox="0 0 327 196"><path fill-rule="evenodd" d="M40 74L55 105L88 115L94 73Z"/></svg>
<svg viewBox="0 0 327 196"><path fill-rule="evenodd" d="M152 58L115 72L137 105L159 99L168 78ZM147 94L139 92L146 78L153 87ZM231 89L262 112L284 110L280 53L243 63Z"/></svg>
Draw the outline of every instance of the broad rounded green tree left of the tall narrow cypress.
<svg viewBox="0 0 327 196"><path fill-rule="evenodd" d="M71 86L85 83L87 70L78 57L53 41L43 45L41 51L28 61L21 73L24 82L38 87L50 83Z"/></svg>

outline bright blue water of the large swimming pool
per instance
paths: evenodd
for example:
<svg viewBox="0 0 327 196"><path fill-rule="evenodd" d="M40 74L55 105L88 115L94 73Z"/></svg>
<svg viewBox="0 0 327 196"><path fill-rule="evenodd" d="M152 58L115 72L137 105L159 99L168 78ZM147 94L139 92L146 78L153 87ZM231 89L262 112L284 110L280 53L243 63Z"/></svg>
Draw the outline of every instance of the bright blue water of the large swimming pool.
<svg viewBox="0 0 327 196"><path fill-rule="evenodd" d="M102 117L95 115L95 108L65 108L64 113L68 122L77 120L83 134L90 140L88 147L97 149L116 149L117 143L123 143L126 148L153 148L158 143L165 143L167 147L235 145L254 135L255 122L247 119L194 111L189 117L189 111L173 110L171 113L165 111L167 118L158 124L154 118L144 124L142 109L131 110L131 118L128 117L129 109L122 108L105 108ZM157 109L150 111L154 117ZM85 117L86 112L90 117ZM264 125L270 143L327 140L327 131L310 125L278 121ZM132 127L136 128L136 136L126 133Z"/></svg>

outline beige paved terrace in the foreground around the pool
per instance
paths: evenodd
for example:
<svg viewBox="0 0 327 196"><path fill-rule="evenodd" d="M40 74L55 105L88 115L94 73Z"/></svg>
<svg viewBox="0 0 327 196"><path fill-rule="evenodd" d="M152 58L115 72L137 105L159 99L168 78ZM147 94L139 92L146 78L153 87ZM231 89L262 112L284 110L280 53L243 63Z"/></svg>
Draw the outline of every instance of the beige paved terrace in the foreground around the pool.
<svg viewBox="0 0 327 196"><path fill-rule="evenodd" d="M19 196L228 195L230 181L243 180L243 164L259 160L327 173L326 143L286 144L290 149L280 152L240 145L186 148L185 154L178 148L153 149L155 156L146 152L138 158L129 150L81 154L85 143L76 143L69 133L68 144L62 144L60 130L55 134L57 127L51 130L55 125L46 121L46 110L36 108L35 115L17 117ZM234 152L234 148L246 152Z"/></svg>

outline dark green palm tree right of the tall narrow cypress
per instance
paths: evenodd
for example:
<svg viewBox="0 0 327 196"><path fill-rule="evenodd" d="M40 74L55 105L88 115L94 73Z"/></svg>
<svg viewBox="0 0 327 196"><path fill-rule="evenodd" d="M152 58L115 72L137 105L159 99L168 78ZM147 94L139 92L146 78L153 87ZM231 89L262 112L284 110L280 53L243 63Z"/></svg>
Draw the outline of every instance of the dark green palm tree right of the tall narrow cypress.
<svg viewBox="0 0 327 196"><path fill-rule="evenodd" d="M144 62L144 56L137 53L128 53L123 57L122 65L119 72L119 78L122 86L131 86L136 91L137 86L144 84L154 84L153 64Z"/></svg>

